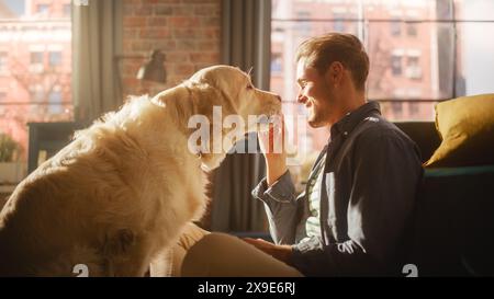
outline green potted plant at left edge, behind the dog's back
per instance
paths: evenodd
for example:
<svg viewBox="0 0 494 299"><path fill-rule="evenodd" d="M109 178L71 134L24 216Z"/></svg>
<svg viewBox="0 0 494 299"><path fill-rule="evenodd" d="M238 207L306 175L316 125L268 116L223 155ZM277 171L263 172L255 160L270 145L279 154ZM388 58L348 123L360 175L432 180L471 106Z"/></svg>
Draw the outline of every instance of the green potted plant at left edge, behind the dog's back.
<svg viewBox="0 0 494 299"><path fill-rule="evenodd" d="M25 175L24 164L19 161L21 146L7 134L0 134L0 185L12 185Z"/></svg>

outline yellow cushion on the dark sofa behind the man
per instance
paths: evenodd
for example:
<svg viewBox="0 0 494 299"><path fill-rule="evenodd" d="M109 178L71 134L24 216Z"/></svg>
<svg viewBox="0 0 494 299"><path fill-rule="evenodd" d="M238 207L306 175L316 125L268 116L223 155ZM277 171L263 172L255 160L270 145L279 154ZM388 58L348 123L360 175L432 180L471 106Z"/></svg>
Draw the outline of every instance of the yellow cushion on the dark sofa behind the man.
<svg viewBox="0 0 494 299"><path fill-rule="evenodd" d="M494 164L494 94L437 104L436 128L442 141L425 166Z"/></svg>

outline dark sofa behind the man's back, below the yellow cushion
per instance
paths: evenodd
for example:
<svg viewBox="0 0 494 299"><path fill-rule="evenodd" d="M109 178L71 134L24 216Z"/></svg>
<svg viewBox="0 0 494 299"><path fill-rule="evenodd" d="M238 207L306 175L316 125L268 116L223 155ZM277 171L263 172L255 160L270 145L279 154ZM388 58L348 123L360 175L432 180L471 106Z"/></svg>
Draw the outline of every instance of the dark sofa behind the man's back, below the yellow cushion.
<svg viewBox="0 0 494 299"><path fill-rule="evenodd" d="M435 123L397 123L427 161ZM419 276L494 276L494 165L426 168L406 263Z"/></svg>

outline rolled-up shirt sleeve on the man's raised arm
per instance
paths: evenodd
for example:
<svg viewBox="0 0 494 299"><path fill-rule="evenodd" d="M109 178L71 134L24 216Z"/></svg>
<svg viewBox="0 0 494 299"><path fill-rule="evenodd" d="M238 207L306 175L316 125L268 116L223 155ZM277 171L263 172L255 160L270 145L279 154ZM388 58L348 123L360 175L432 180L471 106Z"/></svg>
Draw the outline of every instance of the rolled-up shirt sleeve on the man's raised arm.
<svg viewBox="0 0 494 299"><path fill-rule="evenodd" d="M266 177L254 188L252 196L265 205L271 238L277 244L295 241L297 198L295 187L287 171L270 187Z"/></svg>

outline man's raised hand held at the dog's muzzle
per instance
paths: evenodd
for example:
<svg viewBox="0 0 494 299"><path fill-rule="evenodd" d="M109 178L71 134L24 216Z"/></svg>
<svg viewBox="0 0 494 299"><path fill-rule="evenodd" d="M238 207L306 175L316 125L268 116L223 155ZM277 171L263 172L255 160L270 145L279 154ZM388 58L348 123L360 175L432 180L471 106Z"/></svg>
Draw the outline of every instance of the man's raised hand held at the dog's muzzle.
<svg viewBox="0 0 494 299"><path fill-rule="evenodd" d="M271 186L287 172L287 151L284 149L284 119L269 125L268 131L258 133L259 147L265 154L267 166L267 183Z"/></svg>

